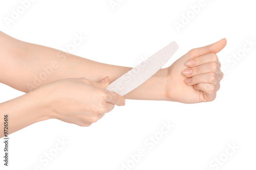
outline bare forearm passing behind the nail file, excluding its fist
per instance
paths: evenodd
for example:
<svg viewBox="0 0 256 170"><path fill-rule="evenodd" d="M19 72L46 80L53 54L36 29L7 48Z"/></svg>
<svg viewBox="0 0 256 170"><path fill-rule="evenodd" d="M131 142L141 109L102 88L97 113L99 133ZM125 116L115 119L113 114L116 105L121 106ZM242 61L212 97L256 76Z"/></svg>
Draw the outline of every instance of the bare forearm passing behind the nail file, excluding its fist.
<svg viewBox="0 0 256 170"><path fill-rule="evenodd" d="M7 39L10 39L10 42L18 42L12 37ZM45 46L21 41L19 43L20 45L15 47L19 50L9 54L8 60L5 60L6 67L2 68L5 75L1 82L24 92L66 78L83 77L98 82L109 76L113 82L132 69L95 62ZM165 100L166 74L167 71L161 69L150 80L125 95L125 98Z"/></svg>

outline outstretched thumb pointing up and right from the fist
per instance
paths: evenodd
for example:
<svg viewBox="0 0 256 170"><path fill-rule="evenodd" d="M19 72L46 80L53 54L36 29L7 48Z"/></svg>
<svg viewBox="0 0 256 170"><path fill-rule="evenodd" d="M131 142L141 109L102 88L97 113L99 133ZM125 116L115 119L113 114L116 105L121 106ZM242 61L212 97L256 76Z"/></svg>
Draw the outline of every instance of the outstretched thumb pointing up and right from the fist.
<svg viewBox="0 0 256 170"><path fill-rule="evenodd" d="M210 44L210 45L200 47L200 48L195 48L195 49L191 50L190 52L193 52L197 55L205 55L210 52L218 53L226 46L226 44L227 44L227 40L225 38L225 39L222 39L214 44Z"/></svg>

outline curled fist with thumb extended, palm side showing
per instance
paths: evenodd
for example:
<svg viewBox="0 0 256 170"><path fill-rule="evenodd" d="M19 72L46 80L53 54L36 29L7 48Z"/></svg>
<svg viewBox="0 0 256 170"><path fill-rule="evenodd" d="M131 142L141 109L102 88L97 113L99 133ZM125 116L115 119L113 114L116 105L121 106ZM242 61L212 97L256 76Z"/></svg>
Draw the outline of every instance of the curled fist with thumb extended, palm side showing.
<svg viewBox="0 0 256 170"><path fill-rule="evenodd" d="M216 53L226 39L188 51L167 69L166 98L182 103L209 102L216 98L223 78Z"/></svg>

